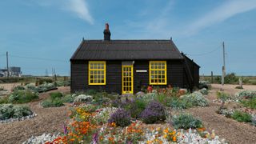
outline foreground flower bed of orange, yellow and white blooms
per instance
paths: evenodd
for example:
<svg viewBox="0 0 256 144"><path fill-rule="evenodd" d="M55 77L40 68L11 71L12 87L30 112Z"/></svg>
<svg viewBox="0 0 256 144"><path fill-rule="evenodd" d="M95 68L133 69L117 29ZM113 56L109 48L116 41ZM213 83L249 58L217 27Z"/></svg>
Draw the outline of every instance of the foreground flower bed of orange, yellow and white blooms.
<svg viewBox="0 0 256 144"><path fill-rule="evenodd" d="M154 106L154 105L153 105ZM114 121L110 120L118 108L102 107L86 104L74 107L70 113L70 122L64 128L64 133L52 142L62 143L183 143L183 142L217 142L221 141L215 134L210 134L202 123L194 130L174 130L168 124L152 126L142 121L130 121L128 126L118 126L116 114ZM124 112L126 113L126 112ZM122 118L122 114L119 118ZM107 120L108 119L108 120ZM189 119L189 118L188 118ZM197 121L197 120L195 120ZM123 126L123 127L122 127ZM195 127L198 127L195 126ZM186 127L188 128L188 127ZM193 131L193 132L192 132ZM50 143L50 142L49 142Z"/></svg>

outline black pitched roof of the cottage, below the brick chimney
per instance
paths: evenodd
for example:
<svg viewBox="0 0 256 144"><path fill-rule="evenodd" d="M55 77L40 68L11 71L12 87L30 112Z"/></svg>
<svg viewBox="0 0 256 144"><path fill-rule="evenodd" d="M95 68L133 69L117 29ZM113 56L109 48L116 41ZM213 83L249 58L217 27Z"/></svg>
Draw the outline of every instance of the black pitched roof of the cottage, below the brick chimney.
<svg viewBox="0 0 256 144"><path fill-rule="evenodd" d="M172 40L82 40L72 60L183 59Z"/></svg>

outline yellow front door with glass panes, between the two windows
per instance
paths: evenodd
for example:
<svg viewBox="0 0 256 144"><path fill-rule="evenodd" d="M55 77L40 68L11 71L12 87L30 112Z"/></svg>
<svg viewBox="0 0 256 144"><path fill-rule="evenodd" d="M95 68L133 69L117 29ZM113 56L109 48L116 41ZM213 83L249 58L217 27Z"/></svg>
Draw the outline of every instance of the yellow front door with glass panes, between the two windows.
<svg viewBox="0 0 256 144"><path fill-rule="evenodd" d="M122 65L122 94L134 94L134 66Z"/></svg>

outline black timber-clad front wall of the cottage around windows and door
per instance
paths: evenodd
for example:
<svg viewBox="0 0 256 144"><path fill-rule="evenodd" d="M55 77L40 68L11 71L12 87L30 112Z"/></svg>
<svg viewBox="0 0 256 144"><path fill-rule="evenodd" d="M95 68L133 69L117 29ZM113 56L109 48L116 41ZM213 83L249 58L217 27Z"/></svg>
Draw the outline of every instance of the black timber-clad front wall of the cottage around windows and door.
<svg viewBox="0 0 256 144"><path fill-rule="evenodd" d="M98 90L108 93L122 93L122 62L106 61L106 85L88 85L88 61L71 62L71 90ZM146 72L136 72L146 70ZM183 86L182 61L167 61L167 84L159 87ZM149 85L149 61L134 61L134 93Z"/></svg>

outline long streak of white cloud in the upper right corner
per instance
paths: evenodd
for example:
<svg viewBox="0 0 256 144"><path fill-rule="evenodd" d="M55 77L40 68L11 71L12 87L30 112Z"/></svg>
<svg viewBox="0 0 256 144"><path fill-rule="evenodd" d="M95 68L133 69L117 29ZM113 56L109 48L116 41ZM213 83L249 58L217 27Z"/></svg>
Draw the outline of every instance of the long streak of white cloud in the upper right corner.
<svg viewBox="0 0 256 144"><path fill-rule="evenodd" d="M195 22L192 22L190 26L186 28L184 34L196 34L198 31L212 26L214 24L225 21L228 18L234 17L237 14L242 14L246 11L254 10L256 8L255 0L232 0L223 3L221 6L214 8L210 12L204 14L201 18L198 18Z"/></svg>

